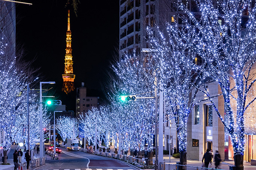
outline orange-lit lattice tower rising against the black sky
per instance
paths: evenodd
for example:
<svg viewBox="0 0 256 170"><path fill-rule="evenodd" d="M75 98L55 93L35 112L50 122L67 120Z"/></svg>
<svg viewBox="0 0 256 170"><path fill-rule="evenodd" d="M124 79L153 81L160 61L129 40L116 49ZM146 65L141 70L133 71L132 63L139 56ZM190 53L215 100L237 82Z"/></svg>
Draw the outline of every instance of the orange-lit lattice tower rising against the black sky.
<svg viewBox="0 0 256 170"><path fill-rule="evenodd" d="M66 56L65 56L65 71L62 74L63 86L62 91L66 94L75 90L74 80L75 74L73 74L73 61L72 61L72 49L71 49L71 31L70 31L70 11L68 11L67 18L67 38L66 38Z"/></svg>

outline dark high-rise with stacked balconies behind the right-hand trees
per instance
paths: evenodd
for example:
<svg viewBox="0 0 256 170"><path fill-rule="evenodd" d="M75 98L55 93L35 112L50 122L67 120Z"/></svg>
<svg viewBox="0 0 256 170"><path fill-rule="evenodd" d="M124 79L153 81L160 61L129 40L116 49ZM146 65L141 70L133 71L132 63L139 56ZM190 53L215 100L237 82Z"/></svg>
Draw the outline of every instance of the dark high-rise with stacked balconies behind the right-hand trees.
<svg viewBox="0 0 256 170"><path fill-rule="evenodd" d="M120 0L120 41L119 57L126 53L137 56L143 54L142 48L150 48L147 42L146 27L164 26L171 21L171 2L166 0Z"/></svg>

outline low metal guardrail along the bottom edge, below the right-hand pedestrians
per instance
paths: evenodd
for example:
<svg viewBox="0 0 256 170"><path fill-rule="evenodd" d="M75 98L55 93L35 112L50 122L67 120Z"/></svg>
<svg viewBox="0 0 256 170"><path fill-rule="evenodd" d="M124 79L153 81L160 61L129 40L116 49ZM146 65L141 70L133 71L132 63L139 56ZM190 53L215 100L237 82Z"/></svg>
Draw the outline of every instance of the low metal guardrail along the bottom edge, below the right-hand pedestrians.
<svg viewBox="0 0 256 170"><path fill-rule="evenodd" d="M196 167L190 165L179 165L179 164L166 164L164 162L160 162L160 170L222 170L215 168L204 168L204 167Z"/></svg>

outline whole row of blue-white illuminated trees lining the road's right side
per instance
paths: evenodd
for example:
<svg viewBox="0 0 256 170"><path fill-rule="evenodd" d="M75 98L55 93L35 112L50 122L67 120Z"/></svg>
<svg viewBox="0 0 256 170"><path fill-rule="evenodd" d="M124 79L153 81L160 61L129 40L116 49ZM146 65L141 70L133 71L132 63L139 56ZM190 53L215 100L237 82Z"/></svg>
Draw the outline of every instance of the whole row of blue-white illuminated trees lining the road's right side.
<svg viewBox="0 0 256 170"><path fill-rule="evenodd" d="M195 105L207 100L229 133L235 165L243 166L244 114L256 99L256 8L248 0L196 0L195 4L196 14L190 12L189 3L177 1L181 12L175 17L182 22L166 24L165 30L147 28L154 53L143 58L126 56L113 65L115 74L106 87L110 104L94 108L80 119L88 140L96 141L94 133L98 131L97 141L121 139L120 146L125 150L141 150L145 143L151 149L154 100L120 102L119 96L154 96L156 74L171 107L169 114L177 124L180 152L186 155L189 114ZM221 94L209 92L207 83L213 81L218 83ZM205 97L198 99L198 93ZM226 120L213 100L220 95L224 98Z"/></svg>

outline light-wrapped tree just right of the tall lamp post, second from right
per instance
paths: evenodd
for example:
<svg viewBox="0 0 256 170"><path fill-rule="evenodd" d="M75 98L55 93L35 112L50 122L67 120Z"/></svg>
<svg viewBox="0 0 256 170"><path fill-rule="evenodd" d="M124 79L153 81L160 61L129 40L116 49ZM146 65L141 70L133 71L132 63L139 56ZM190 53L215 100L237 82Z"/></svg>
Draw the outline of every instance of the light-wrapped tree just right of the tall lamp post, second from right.
<svg viewBox="0 0 256 170"><path fill-rule="evenodd" d="M186 25L166 24L168 36L165 37L158 30L160 38L157 39L152 29L148 28L149 41L157 51L153 56L161 70L161 83L171 103L170 112L175 118L180 162L186 162L187 119L194 106L200 102L195 101L198 90L192 90L195 86L200 88L201 67L205 65L199 64L196 53L190 50L193 41L189 37L193 31Z"/></svg>

